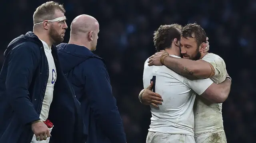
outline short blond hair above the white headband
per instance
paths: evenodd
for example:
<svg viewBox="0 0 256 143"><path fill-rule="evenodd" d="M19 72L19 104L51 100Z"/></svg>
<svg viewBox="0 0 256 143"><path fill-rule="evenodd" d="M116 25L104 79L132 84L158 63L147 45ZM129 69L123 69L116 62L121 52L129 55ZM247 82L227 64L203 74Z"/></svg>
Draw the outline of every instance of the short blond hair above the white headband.
<svg viewBox="0 0 256 143"><path fill-rule="evenodd" d="M60 10L63 13L66 12L62 4L58 4L53 1L46 2L41 6L38 6L33 15L34 24L43 22L44 20L54 19L55 10Z"/></svg>

